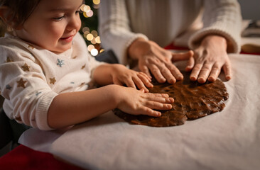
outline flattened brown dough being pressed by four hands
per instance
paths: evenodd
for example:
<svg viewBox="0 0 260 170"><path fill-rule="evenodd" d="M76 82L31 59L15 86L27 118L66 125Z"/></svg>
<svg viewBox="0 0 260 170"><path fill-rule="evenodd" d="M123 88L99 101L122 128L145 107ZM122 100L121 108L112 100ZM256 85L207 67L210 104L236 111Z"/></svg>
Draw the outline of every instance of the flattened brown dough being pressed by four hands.
<svg viewBox="0 0 260 170"><path fill-rule="evenodd" d="M149 89L151 93L168 94L174 98L173 108L161 111L161 117L130 115L119 109L114 109L114 113L131 124L166 127L183 125L186 120L202 118L223 110L224 101L229 95L220 79L199 84L197 81L190 81L188 73L183 72L183 76L184 80L175 84L153 82L153 88Z"/></svg>

